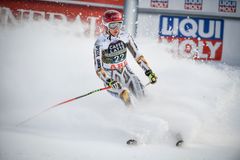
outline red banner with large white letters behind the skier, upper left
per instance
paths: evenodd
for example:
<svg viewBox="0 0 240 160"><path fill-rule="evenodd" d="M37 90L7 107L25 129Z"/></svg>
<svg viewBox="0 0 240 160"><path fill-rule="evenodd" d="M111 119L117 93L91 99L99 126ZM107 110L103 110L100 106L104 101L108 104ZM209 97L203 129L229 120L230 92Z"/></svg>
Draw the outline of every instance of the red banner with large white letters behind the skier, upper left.
<svg viewBox="0 0 240 160"><path fill-rule="evenodd" d="M85 0L86 2L87 0ZM94 0L92 0L94 1ZM121 0L122 1L122 0ZM60 1L29 1L29 0L1 0L0 23L17 23L19 21L48 20L61 22L76 22L83 26L86 35L99 34L101 16L110 9L107 7L76 5ZM90 0L88 0L90 2ZM102 0L103 2L103 0ZM96 4L96 3L91 3ZM123 12L121 9L117 9Z"/></svg>

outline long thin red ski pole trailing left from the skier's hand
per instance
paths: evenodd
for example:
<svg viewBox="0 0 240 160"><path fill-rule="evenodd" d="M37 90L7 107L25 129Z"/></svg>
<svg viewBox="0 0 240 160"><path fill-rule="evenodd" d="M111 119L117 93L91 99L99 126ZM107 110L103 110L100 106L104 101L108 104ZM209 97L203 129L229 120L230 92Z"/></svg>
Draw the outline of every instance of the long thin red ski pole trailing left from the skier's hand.
<svg viewBox="0 0 240 160"><path fill-rule="evenodd" d="M78 96L78 97L75 97L75 98L71 98L71 99L68 99L68 100L66 100L66 101L60 102L60 103L58 103L58 104L55 104L55 105L53 105L53 106L51 106L51 107L48 107L47 109L39 112L38 114L35 114L34 116L29 117L28 119L26 119L26 120L18 123L16 126L23 125L23 124L27 123L28 121L30 121L30 120L32 120L32 119L40 116L41 114L43 114L43 113L45 113L45 112L47 112L47 111L50 110L50 109L53 109L53 108L55 108L55 107L58 107L58 106L60 106L60 105L63 105L63 104L66 104L66 103L69 103L69 102L72 102L72 101L75 101L75 100L80 99L80 98L83 98L83 97L86 97L86 96L88 96L88 95L90 95L90 94L93 94L93 93L96 93L96 92L99 92L99 91L108 90L108 89L110 89L110 88L111 88L111 86L107 86L107 87L104 87L104 88L99 88L99 89L93 90L93 91L91 91L91 92L89 92L89 93L86 93L86 94L84 94L84 95L81 95L81 96Z"/></svg>

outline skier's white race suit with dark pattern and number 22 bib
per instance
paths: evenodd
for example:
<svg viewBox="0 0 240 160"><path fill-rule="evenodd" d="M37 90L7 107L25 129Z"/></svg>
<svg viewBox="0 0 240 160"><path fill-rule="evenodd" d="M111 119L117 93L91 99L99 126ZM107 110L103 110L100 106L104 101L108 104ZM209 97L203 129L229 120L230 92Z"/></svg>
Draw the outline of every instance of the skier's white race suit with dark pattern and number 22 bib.
<svg viewBox="0 0 240 160"><path fill-rule="evenodd" d="M128 65L127 49L144 72L150 70L143 55L139 53L132 36L120 30L117 36L102 33L97 38L94 45L96 73L105 84L109 78L122 84L121 89L108 90L111 94L121 98L122 92L129 90L136 98L141 98L144 96L143 85Z"/></svg>

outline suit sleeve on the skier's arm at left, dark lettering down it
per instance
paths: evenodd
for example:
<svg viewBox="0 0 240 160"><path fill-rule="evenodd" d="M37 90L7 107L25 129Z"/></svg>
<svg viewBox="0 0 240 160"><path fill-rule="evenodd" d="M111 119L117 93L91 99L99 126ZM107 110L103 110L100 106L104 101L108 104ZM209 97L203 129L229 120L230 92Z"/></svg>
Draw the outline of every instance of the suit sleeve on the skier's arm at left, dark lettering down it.
<svg viewBox="0 0 240 160"><path fill-rule="evenodd" d="M102 48L101 48L101 45L98 43L98 41L94 45L93 53L94 53L94 65L95 65L96 74L101 80L106 82L107 79L109 79L110 77L107 75L107 73L103 69Z"/></svg>

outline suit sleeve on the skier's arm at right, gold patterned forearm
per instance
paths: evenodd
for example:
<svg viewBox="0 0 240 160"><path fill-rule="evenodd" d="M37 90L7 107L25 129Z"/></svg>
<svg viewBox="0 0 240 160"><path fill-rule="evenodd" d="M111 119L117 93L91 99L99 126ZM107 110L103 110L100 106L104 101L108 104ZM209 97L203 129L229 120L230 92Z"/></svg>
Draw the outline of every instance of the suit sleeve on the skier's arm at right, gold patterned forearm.
<svg viewBox="0 0 240 160"><path fill-rule="evenodd" d="M145 60L144 56L139 53L136 43L134 42L131 35L129 35L129 42L127 43L127 48L132 53L134 59L138 63L138 65L143 69L144 72L150 70L150 67Z"/></svg>

